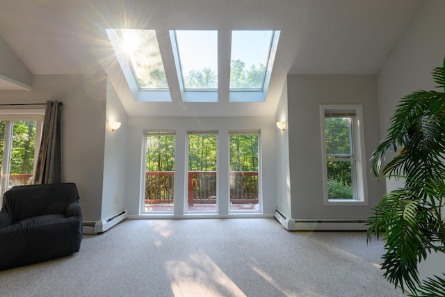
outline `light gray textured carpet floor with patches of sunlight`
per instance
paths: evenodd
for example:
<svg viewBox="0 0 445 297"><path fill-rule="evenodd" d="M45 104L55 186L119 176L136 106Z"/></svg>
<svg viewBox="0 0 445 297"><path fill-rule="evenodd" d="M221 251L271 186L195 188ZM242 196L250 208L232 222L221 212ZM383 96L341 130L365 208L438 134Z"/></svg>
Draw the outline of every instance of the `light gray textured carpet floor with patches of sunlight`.
<svg viewBox="0 0 445 297"><path fill-rule="evenodd" d="M403 296L365 232L288 232L273 218L126 220L81 250L0 271L1 296Z"/></svg>

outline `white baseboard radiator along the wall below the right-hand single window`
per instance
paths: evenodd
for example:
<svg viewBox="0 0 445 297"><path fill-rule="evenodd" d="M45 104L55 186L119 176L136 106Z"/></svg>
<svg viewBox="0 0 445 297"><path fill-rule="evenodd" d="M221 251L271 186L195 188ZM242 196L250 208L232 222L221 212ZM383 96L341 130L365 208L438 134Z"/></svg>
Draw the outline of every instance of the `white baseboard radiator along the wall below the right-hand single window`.
<svg viewBox="0 0 445 297"><path fill-rule="evenodd" d="M289 231L364 231L366 220L332 220L332 219L296 219L288 218L282 211L275 209L274 217Z"/></svg>

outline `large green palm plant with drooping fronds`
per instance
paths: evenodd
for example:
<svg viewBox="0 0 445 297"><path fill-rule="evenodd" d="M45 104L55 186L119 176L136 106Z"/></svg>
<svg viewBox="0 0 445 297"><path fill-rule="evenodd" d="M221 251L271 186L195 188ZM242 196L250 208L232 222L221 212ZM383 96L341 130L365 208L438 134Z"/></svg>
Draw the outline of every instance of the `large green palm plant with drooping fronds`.
<svg viewBox="0 0 445 297"><path fill-rule="evenodd" d="M444 67L432 72L445 92ZM368 241L385 241L382 269L395 287L412 296L445 296L445 280L421 281L418 264L445 252L445 93L418 90L399 102L388 136L371 157L375 177L403 178L405 186L384 195L368 222ZM383 168L387 152L393 155Z"/></svg>

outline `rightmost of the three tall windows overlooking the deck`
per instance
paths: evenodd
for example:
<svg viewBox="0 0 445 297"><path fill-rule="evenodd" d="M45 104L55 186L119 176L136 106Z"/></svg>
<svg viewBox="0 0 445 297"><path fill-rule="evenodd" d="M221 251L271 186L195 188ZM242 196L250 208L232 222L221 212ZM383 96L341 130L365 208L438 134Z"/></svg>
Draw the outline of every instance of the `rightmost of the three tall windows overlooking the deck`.
<svg viewBox="0 0 445 297"><path fill-rule="evenodd" d="M259 211L259 131L229 131L230 211Z"/></svg>

